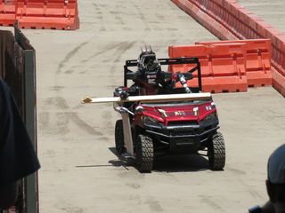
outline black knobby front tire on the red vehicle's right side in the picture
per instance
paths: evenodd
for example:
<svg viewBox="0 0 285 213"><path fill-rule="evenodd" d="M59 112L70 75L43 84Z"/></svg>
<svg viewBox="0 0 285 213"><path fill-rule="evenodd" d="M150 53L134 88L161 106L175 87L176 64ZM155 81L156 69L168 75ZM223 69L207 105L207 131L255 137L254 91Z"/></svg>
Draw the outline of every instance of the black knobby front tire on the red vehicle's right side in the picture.
<svg viewBox="0 0 285 213"><path fill-rule="evenodd" d="M225 165L224 137L220 132L212 136L208 143L208 162L211 170L223 170Z"/></svg>

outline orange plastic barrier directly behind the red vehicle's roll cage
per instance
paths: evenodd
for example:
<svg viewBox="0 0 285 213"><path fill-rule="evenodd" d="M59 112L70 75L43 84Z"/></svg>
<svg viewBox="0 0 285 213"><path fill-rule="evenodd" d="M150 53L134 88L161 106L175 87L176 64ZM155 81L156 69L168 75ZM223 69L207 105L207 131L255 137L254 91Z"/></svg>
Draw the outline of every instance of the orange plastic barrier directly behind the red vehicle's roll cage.
<svg viewBox="0 0 285 213"><path fill-rule="evenodd" d="M201 65L202 90L213 93L247 91L248 82L245 69L245 43L213 43L212 45L170 46L170 58L198 57ZM172 65L171 72L187 72L188 65ZM194 75L194 77L197 76ZM188 82L197 86L197 79ZM181 85L176 84L177 87Z"/></svg>

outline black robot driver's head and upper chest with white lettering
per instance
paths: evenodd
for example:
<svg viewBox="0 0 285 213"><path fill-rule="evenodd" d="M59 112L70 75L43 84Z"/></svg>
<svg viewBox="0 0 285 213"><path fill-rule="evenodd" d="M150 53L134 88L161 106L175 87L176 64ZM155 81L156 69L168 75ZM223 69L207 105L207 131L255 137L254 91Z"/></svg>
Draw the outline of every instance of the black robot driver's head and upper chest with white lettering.
<svg viewBox="0 0 285 213"><path fill-rule="evenodd" d="M161 67L154 51L151 47L142 50L138 59L138 70L141 73L141 80L151 86L158 86L159 73Z"/></svg>

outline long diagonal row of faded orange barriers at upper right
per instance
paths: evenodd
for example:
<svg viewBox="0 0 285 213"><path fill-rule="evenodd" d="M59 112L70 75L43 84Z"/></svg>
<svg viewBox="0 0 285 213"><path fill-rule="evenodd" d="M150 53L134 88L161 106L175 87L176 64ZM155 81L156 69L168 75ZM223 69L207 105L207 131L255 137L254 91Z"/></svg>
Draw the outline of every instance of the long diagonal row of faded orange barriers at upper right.
<svg viewBox="0 0 285 213"><path fill-rule="evenodd" d="M256 39L269 38L272 45L272 67L282 78L285 78L285 36L265 23L253 12L248 11L237 0L172 0L184 12L208 28L220 39ZM279 75L273 75L273 87L279 89L284 83ZM275 79L276 77L276 79ZM285 87L284 90L285 91ZM282 93L285 96L285 92Z"/></svg>

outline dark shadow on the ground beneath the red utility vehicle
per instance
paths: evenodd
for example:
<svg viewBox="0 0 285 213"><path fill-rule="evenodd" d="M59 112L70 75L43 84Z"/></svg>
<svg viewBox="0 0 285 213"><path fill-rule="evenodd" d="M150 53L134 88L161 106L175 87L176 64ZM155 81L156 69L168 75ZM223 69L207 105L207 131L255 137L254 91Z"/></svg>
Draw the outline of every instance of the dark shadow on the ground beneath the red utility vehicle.
<svg viewBox="0 0 285 213"><path fill-rule="evenodd" d="M110 151L118 157L118 160L111 160L115 167L124 167L127 170L129 166L135 166L133 158L117 154L115 147L110 147ZM191 172L199 170L210 170L208 159L199 154L173 154L162 155L155 158L153 171L163 172Z"/></svg>

